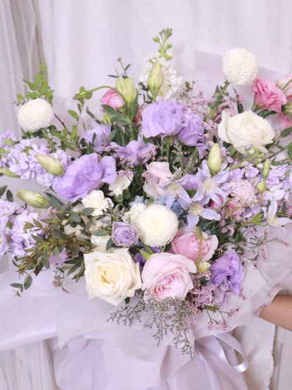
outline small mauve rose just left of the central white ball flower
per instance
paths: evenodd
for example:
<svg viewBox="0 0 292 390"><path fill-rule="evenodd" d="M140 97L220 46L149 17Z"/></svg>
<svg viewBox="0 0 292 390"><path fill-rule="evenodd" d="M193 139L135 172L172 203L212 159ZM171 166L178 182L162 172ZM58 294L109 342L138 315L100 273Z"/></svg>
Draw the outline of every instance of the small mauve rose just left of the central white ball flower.
<svg viewBox="0 0 292 390"><path fill-rule="evenodd" d="M132 247L137 243L138 239L138 230L132 223L112 223L112 240L118 247Z"/></svg>

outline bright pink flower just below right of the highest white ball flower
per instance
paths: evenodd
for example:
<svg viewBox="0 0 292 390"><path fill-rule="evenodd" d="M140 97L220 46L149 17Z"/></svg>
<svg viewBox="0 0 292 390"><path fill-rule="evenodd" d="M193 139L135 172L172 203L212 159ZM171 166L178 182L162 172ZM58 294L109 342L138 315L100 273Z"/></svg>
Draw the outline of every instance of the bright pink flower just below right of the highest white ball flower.
<svg viewBox="0 0 292 390"><path fill-rule="evenodd" d="M251 89L255 94L255 104L266 110L281 112L281 106L287 103L285 93L270 80L255 79Z"/></svg>

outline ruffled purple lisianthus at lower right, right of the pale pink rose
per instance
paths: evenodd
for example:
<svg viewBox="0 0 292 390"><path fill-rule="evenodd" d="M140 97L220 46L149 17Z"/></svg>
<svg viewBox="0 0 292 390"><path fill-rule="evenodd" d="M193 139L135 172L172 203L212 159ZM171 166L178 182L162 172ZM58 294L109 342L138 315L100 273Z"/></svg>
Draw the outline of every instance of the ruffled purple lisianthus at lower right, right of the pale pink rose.
<svg viewBox="0 0 292 390"><path fill-rule="evenodd" d="M211 283L218 287L220 292L225 293L225 299L230 292L239 295L240 283L244 280L244 267L236 252L233 250L225 252L223 256L215 260L210 269Z"/></svg>

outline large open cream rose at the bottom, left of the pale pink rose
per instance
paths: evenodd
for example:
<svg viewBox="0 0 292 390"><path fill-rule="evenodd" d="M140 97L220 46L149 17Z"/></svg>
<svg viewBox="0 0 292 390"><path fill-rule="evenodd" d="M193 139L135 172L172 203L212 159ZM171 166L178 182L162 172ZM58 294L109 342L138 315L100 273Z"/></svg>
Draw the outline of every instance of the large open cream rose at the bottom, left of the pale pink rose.
<svg viewBox="0 0 292 390"><path fill-rule="evenodd" d="M84 254L84 263L88 299L98 297L117 306L142 287L139 264L126 248Z"/></svg>

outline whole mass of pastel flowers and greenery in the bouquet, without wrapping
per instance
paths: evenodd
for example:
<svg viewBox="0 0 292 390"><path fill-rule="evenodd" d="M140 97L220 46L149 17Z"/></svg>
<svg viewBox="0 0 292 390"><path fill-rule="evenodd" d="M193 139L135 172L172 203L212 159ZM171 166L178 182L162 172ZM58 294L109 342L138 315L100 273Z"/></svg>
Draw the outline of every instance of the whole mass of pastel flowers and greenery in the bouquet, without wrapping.
<svg viewBox="0 0 292 390"><path fill-rule="evenodd" d="M54 115L46 64L25 80L15 102L22 140L0 136L0 172L44 191L20 188L20 204L1 187L0 254L18 268L16 295L52 267L65 293L68 279L85 278L88 299L113 305L109 320L142 321L158 344L170 332L192 356L192 323L205 312L209 329L228 330L237 307L225 304L242 295L246 264L267 259L269 226L291 222L292 80L256 79L255 56L233 48L222 60L225 84L205 98L194 82L181 86L170 37L154 37L159 49L138 86L119 59L113 86L81 87L72 128ZM234 86L251 83L246 111ZM97 118L87 103L99 89L107 92Z"/></svg>

